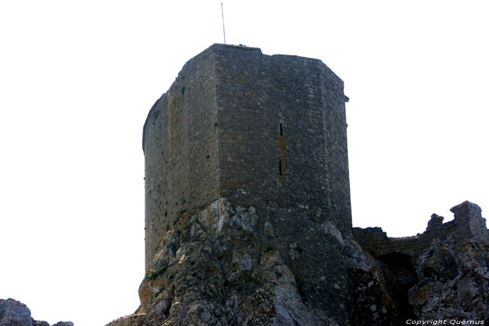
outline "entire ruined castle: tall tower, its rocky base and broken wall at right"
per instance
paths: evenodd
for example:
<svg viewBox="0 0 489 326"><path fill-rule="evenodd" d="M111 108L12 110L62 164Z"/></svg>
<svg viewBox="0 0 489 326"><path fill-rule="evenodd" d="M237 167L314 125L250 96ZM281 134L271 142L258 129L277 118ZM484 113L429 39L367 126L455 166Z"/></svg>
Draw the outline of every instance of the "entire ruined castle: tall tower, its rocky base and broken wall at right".
<svg viewBox="0 0 489 326"><path fill-rule="evenodd" d="M143 132L140 306L108 326L488 324L479 206L414 237L352 230L347 100L316 59L189 60Z"/></svg>

